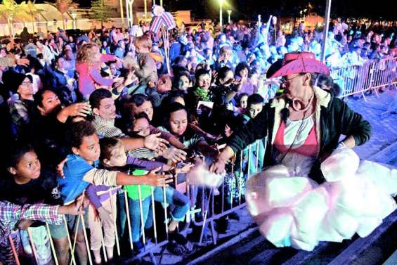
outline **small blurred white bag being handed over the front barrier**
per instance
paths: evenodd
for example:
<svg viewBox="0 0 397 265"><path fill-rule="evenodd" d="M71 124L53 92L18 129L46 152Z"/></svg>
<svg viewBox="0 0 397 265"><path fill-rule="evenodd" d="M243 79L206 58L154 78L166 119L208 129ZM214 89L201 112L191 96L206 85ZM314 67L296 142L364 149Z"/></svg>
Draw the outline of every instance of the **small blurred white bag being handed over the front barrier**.
<svg viewBox="0 0 397 265"><path fill-rule="evenodd" d="M224 176L209 172L207 164L198 164L186 175L190 184L217 188L223 183Z"/></svg>

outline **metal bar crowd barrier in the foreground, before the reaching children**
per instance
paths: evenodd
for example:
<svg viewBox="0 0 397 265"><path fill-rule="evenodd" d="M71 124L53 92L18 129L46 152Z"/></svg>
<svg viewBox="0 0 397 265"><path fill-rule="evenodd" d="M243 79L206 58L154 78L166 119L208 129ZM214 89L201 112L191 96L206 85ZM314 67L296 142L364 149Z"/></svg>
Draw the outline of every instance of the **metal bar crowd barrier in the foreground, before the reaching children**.
<svg viewBox="0 0 397 265"><path fill-rule="evenodd" d="M253 149L256 148L256 158L254 159L251 155L251 151ZM248 152L247 152L248 151ZM245 157L244 153L247 153L247 157ZM259 168L258 168L258 156L259 153L259 141L256 141L255 143L253 143L252 145L250 145L248 148L246 148L245 150L242 150L240 152L240 154L238 154L237 156L234 157L234 160L231 163L231 170L230 172L228 172L228 176L229 178L231 178L233 181L235 181L235 183L237 183L237 185L235 186L235 188L237 188L237 193L238 193L238 200L237 203L233 202L233 200L235 198L230 197L230 202L226 202L226 188L228 188L228 190L230 191L230 195L231 192L235 190L231 190L230 187L227 187L228 184L225 183L225 181L223 181L222 185L219 187L219 189L221 189L221 193L219 195L214 195L214 188L202 188L200 191L202 192L202 207L200 207L200 209L195 209L195 207L193 207L193 209L191 208L187 214L186 214L186 226L184 226L184 228L179 229L180 233L186 233L188 227L190 226L190 223L195 224L196 226L202 226L202 231L201 231L201 235L200 235L200 242L199 245L202 245L202 239L203 239L203 235L204 235L204 228L209 224L211 226L211 232L212 232L212 240L213 243L216 245L216 233L214 231L214 221L216 221L217 219L220 219L223 216L226 216L232 212L237 211L238 209L241 209L242 207L245 207L245 202L243 202L242 200L242 196L244 193L244 189L245 189L245 183L247 181L247 178L249 178L249 176L251 176L252 174L255 174L256 172L258 172ZM203 157L205 160L205 157ZM237 164L237 171L235 170L235 162L237 161L236 159L238 158L239 164ZM247 171L243 171L242 167L243 167L243 160L245 160L245 169ZM254 163L252 165L252 163ZM254 172L252 172L252 170L250 170L250 168L254 167ZM186 196L188 196L188 198L190 198L190 192L191 190L193 190L193 188L195 188L195 186L190 185L188 183L188 180L186 180ZM176 182L175 182L176 183ZM177 186L177 183L176 183ZM131 259L129 259L128 261L131 261L133 259L140 259L141 257L144 257L145 255L150 254L150 257L152 257L152 261L154 264L156 264L154 255L153 255L153 250L155 249L159 249L164 247L164 245L167 245L168 243L168 207L167 207L167 202L166 202L166 191L165 191L165 186L162 188L163 190L163 207L164 207L164 231L165 234L167 235L167 237L162 240L161 242L159 242L158 240L158 236L157 236L157 221L160 220L156 220L156 210L155 210L155 199L154 199L154 188L151 188L151 192L152 192L152 214L153 214L153 224L152 224L152 228L153 229L153 235L154 235L154 242L152 242L151 244L147 244L146 242L146 238L145 238L145 224L143 224L143 208L142 208L142 198L141 198L141 186L138 186L138 196L139 196L139 205L140 205L140 215L141 215L141 228L142 228L142 235L141 235L141 240L143 245L145 245L145 250L139 254L134 254L134 257L132 257ZM180 190L181 191L181 190ZM110 195L112 195L112 189L109 190ZM207 200L204 200L204 196ZM219 197L220 196L220 197ZM112 200L112 196L110 196L110 200ZM216 198L219 198L219 201L217 201L218 203L220 203L220 207L218 207L219 209L216 209L216 207L214 207L215 205L215 201ZM134 252L134 245L132 244L132 231L131 231L131 219L129 216L129 199L127 196L126 191L124 190L124 201L125 201L125 207L126 207L126 228L128 229L128 235L129 235L129 243L130 243L130 248L131 250L133 250ZM206 201L206 203L204 203L204 201ZM197 200L195 205L197 205ZM202 212L204 214L202 221L195 221L195 213L197 212ZM123 255L123 253L120 250L120 245L119 245L119 235L117 233L117 222L116 222L116 213L112 212L112 216L114 217L114 224L115 224L115 238L116 238L116 249L117 249L117 254L119 255L119 257L121 257ZM74 237L72 237L70 235L69 229L67 229L67 241L68 241L68 246L69 246L69 251L70 251L70 264L71 265L75 265L77 264L77 258L74 255L74 250L76 247L76 238L77 238L77 231L78 226L79 226L79 220L82 221L82 226L83 226L83 232L84 232L84 240L85 240L85 244L86 244L86 248L87 248L87 254L89 257L89 264L92 265L93 264L93 260L91 257L91 249L90 249L90 238L88 237L87 233L86 233L86 223L84 221L84 217L83 214L80 214L79 216L77 216L77 228L75 230L74 233ZM67 221L66 221L66 217L65 215L63 216L63 223L65 225L65 228L67 228ZM53 238L51 238L51 232L49 229L48 224L46 224L46 232L48 235L48 240L50 243L50 247L51 247L51 252L53 255L53 261L55 262L56 265L58 265L58 258L57 258L57 254L56 254L56 248L54 247L54 243L53 243ZM31 236L30 230L28 230L29 233L29 239L30 239L30 245L32 247L32 254L33 257L36 261L37 264L39 264L38 262L38 254L37 254L37 247L35 245L35 243L33 242L33 238ZM107 261L107 257L106 257L106 250L105 250L105 244L103 241L103 232L102 232L102 250L103 250L103 258L105 259L105 261ZM10 244L11 246L14 245L13 241L10 240ZM116 253L115 253L116 254ZM18 254L15 251L14 252L14 256L15 259L17 260L17 264L19 264L19 260L18 260Z"/></svg>

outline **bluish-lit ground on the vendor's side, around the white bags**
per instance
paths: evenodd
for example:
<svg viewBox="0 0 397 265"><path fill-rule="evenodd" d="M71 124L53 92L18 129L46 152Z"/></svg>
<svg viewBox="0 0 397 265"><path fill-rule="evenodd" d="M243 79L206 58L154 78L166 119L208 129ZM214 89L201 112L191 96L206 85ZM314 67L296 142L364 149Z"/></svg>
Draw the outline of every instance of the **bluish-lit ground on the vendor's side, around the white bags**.
<svg viewBox="0 0 397 265"><path fill-rule="evenodd" d="M387 90L381 93L379 98L374 95L368 96L367 101L363 99L347 101L350 108L363 115L372 125L370 141L354 148L361 159L397 166L397 114L381 115L386 111L396 93L396 90ZM189 264L190 262L205 265L282 264L285 261L288 261L288 264L328 264L335 257L343 256L346 250L351 251L349 245L353 245L352 243L357 239L356 235L353 240L344 240L344 243L323 243L313 252L299 252L291 248L278 249L259 235L245 208L240 209L238 214L240 221L231 221L229 233L219 236L216 246L209 244L197 247L197 251L189 257L176 257L169 254L167 250L162 254L155 251L153 258L157 264ZM351 264L379 264L396 250L396 216L395 212L393 218L388 220L387 226L384 224L379 228L377 238L368 237L371 240L370 246ZM203 259L199 259L200 257ZM144 260L153 259L145 257Z"/></svg>

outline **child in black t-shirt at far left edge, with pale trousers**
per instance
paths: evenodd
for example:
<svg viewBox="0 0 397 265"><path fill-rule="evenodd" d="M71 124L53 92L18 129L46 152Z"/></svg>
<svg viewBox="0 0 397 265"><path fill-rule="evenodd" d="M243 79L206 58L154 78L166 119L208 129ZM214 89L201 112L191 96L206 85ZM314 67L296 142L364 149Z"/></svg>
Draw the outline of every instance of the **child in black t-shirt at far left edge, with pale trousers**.
<svg viewBox="0 0 397 265"><path fill-rule="evenodd" d="M32 146L26 143L15 143L8 155L7 169L10 177L0 181L0 200L6 200L17 205L39 202L51 205L62 203L56 173L41 169L39 158ZM19 245L20 241L25 256L30 259L33 258L34 252L32 252L29 242L31 237L37 249L37 262L39 264L50 262L52 259L51 249L44 224L20 220L20 226L24 226L25 229L19 231L16 243Z"/></svg>

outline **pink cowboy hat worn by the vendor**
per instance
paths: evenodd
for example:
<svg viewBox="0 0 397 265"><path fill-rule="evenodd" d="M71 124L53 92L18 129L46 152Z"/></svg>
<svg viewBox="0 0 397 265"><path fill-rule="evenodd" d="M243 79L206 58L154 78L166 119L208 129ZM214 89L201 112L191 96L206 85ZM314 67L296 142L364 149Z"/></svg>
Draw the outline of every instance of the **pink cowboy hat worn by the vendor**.
<svg viewBox="0 0 397 265"><path fill-rule="evenodd" d="M315 59L314 53L297 52L285 53L282 60L278 60L266 72L267 78L283 77L285 75L299 74L301 72L316 72L330 75L330 70L324 63Z"/></svg>

